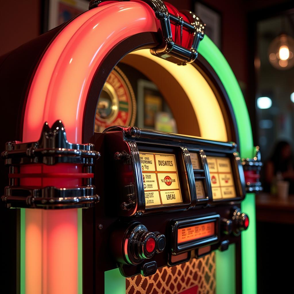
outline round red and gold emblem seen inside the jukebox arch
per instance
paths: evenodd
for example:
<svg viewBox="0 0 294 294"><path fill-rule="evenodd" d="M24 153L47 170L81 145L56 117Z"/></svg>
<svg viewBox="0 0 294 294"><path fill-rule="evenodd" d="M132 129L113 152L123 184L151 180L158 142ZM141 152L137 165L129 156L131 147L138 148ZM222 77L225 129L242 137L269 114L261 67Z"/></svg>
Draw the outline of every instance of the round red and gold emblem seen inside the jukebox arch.
<svg viewBox="0 0 294 294"><path fill-rule="evenodd" d="M109 126L130 126L136 119L136 100L126 75L116 66L101 91L95 117L95 131Z"/></svg>

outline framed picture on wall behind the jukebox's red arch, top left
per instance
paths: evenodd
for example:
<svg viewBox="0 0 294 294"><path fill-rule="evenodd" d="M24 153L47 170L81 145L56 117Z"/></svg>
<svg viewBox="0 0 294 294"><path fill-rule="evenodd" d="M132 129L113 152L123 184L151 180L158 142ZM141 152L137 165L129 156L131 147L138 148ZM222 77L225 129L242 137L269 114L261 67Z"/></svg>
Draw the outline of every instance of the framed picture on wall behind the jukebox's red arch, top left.
<svg viewBox="0 0 294 294"><path fill-rule="evenodd" d="M44 11L43 33L87 11L89 8L89 1L87 0L47 0L41 1L41 3L44 6L42 7L42 11Z"/></svg>

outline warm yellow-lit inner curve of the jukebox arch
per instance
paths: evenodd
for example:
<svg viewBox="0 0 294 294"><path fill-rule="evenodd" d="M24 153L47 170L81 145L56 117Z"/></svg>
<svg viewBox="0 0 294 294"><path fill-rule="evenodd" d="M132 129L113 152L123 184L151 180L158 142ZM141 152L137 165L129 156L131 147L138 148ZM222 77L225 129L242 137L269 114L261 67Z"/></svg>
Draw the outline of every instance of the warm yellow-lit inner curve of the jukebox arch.
<svg viewBox="0 0 294 294"><path fill-rule="evenodd" d="M178 66L153 56L149 49L133 51L121 62L156 84L176 120L178 133L228 141L230 126L225 125L216 95L193 65Z"/></svg>

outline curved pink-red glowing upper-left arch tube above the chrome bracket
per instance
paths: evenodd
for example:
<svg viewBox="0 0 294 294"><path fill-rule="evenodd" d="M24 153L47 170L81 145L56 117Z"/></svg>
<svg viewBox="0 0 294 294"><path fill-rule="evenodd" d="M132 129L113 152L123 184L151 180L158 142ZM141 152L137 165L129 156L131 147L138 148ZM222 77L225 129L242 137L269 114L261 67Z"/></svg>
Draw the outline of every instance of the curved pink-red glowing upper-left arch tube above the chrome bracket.
<svg viewBox="0 0 294 294"><path fill-rule="evenodd" d="M103 58L123 39L155 32L158 24L153 10L141 1L105 4L71 21L52 41L36 70L23 142L36 141L45 121L52 125L62 118L68 140L82 143L88 89Z"/></svg>

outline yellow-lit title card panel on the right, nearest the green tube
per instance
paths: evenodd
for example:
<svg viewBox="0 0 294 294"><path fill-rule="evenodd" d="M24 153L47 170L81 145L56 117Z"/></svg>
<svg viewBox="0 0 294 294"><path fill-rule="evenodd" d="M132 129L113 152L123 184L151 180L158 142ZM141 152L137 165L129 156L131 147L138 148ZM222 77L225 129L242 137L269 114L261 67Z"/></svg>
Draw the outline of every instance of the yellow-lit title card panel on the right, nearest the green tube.
<svg viewBox="0 0 294 294"><path fill-rule="evenodd" d="M235 198L236 189L230 158L207 156L213 200Z"/></svg>

